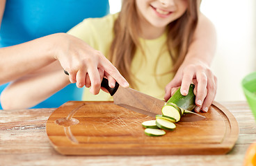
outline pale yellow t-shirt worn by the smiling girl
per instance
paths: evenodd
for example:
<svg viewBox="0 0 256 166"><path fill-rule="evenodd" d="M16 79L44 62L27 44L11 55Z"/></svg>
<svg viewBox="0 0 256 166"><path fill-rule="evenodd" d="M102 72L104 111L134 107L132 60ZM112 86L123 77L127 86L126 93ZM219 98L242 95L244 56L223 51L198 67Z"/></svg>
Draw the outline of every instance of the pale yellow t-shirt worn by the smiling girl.
<svg viewBox="0 0 256 166"><path fill-rule="evenodd" d="M117 17L118 14L102 18L84 19L72 28L68 34L79 37L103 55L109 57L109 48L113 40L113 24ZM140 42L145 55L140 49L137 49L131 62L131 72L136 77L136 90L163 100L165 86L173 79L173 74L168 73L173 64L166 48L166 33L157 39L140 38ZM98 95L93 95L86 88L83 93L83 100L108 101L113 100L113 98L109 93L102 90Z"/></svg>

